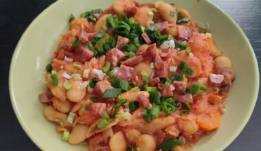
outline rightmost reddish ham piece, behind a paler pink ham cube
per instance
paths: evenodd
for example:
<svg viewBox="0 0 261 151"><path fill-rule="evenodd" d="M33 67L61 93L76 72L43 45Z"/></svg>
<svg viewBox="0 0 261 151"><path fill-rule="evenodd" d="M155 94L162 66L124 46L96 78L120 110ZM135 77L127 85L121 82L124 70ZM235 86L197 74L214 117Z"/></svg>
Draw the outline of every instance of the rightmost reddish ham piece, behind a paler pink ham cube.
<svg viewBox="0 0 261 151"><path fill-rule="evenodd" d="M235 71L229 67L218 69L218 73L224 75L224 81L222 85L231 84L235 79Z"/></svg>

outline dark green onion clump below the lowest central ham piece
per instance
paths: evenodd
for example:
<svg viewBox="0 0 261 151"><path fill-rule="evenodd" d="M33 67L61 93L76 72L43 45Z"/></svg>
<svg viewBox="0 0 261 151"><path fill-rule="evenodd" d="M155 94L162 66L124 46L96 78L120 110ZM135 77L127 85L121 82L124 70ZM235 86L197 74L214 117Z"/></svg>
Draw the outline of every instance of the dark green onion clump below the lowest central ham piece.
<svg viewBox="0 0 261 151"><path fill-rule="evenodd" d="M150 123L152 119L159 117L159 111L160 109L157 106L152 106L152 108L144 107L142 116L147 123Z"/></svg>

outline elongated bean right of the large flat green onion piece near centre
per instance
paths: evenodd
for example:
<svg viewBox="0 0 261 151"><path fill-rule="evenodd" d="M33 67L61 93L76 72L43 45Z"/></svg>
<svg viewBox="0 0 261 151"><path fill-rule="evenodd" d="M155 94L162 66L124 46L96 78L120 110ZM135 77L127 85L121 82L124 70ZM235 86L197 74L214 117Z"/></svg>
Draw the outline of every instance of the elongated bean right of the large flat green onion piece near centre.
<svg viewBox="0 0 261 151"><path fill-rule="evenodd" d="M126 99L128 102L137 101L139 94L144 94L147 98L150 96L150 93L147 91L126 91L120 94L118 100Z"/></svg>

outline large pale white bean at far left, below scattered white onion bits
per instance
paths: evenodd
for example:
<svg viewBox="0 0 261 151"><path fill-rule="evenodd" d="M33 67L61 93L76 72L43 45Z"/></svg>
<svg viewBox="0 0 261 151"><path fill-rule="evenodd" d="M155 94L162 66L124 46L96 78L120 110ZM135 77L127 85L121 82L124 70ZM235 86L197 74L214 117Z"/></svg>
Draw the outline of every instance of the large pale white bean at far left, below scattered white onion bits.
<svg viewBox="0 0 261 151"><path fill-rule="evenodd" d="M71 102L80 102L86 93L86 88L82 88L81 80L69 80L69 84L71 84L71 89L66 92L68 100Z"/></svg>

